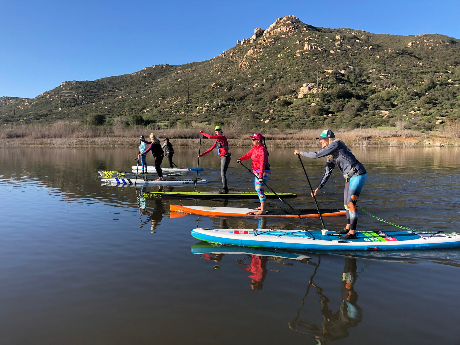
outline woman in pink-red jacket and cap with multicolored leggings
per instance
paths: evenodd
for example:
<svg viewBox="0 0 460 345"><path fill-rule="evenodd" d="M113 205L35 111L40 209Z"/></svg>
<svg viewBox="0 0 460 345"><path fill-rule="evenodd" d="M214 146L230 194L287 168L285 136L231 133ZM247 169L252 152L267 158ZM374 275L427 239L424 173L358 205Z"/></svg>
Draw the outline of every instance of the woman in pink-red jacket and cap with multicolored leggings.
<svg viewBox="0 0 460 345"><path fill-rule="evenodd" d="M271 174L270 164L268 164L268 150L265 145L262 144L262 140L264 140L264 136L262 134L254 133L254 135L251 136L251 139L253 140L253 147L246 155L238 158L236 163L240 164L241 161L246 161L249 158L253 160L253 173L257 176L254 176L254 188L260 201L260 207L256 208L259 212L254 214L265 214L267 213L265 210L267 197L264 193L264 183L267 183Z"/></svg>

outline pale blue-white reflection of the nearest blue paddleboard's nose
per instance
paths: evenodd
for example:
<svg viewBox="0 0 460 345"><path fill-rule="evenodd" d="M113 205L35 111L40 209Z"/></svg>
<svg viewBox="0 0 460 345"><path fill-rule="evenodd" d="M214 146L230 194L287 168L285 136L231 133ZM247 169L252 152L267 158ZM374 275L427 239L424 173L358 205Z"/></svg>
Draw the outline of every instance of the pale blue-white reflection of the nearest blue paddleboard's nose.
<svg viewBox="0 0 460 345"><path fill-rule="evenodd" d="M302 253L290 253L282 249L259 249L241 246L222 246L213 245L209 242L198 242L190 247L194 254L251 254L258 256L271 256L282 259L310 259L309 256Z"/></svg>

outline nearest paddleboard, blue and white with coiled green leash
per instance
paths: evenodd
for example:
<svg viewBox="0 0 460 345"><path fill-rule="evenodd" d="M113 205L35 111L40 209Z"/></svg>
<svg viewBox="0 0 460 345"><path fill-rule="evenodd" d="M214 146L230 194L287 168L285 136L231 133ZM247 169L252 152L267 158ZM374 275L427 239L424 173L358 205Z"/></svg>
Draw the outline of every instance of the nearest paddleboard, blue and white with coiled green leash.
<svg viewBox="0 0 460 345"><path fill-rule="evenodd" d="M460 235L446 232L357 231L357 238L340 240L321 231L272 229L195 229L198 240L247 247L302 250L382 250L460 247Z"/></svg>

